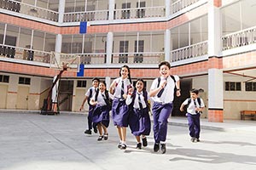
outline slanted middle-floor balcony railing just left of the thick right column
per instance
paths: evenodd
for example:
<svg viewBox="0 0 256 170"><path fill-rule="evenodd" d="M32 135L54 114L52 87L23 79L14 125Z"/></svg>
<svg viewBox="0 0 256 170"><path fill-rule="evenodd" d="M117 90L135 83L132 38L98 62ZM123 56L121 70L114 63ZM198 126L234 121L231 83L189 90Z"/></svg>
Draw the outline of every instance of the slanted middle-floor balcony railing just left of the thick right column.
<svg viewBox="0 0 256 170"><path fill-rule="evenodd" d="M172 62L183 60L183 59L191 59L195 57L199 57L202 55L208 54L208 42L199 42L193 44L191 46L187 46L184 48L178 48L171 51Z"/></svg>

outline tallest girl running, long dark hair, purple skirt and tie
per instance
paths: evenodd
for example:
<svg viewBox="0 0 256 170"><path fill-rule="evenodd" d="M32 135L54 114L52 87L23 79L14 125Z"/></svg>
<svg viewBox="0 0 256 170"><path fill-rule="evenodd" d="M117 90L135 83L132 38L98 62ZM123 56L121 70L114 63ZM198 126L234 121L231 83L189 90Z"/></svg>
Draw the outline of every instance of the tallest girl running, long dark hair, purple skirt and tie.
<svg viewBox="0 0 256 170"><path fill-rule="evenodd" d="M119 70L119 78L113 80L110 85L110 93L113 94L112 116L113 125L119 133L118 148L126 149L126 127L128 127L129 107L125 104L128 90L132 88L131 72L127 65Z"/></svg>

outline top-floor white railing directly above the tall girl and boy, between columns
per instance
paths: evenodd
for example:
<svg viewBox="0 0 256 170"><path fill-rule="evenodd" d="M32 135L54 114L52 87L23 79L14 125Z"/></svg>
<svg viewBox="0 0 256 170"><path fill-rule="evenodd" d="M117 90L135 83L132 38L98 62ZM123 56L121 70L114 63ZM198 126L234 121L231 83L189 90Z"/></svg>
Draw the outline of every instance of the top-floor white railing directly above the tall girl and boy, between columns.
<svg viewBox="0 0 256 170"><path fill-rule="evenodd" d="M166 16L166 7L122 8L115 9L113 14L114 20L160 18Z"/></svg>

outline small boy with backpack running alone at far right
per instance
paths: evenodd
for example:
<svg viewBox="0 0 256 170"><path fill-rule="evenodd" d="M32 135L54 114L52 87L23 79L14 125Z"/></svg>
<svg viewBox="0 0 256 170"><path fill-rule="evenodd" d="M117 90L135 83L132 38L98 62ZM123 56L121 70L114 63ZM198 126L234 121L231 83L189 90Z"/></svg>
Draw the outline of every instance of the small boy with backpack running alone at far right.
<svg viewBox="0 0 256 170"><path fill-rule="evenodd" d="M188 117L189 122L189 135L191 137L191 142L200 142L200 115L205 108L204 102L198 97L198 94L198 89L191 89L190 98L186 99L180 106L180 111L183 111L183 107L188 105L186 116Z"/></svg>

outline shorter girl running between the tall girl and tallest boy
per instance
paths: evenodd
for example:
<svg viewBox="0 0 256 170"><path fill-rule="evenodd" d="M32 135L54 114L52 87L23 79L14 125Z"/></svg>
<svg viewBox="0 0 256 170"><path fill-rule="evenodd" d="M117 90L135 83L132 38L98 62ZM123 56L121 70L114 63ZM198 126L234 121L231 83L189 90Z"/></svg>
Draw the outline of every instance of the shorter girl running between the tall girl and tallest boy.
<svg viewBox="0 0 256 170"><path fill-rule="evenodd" d="M146 135L149 135L151 128L148 114L148 92L144 88L143 79L137 80L136 90L132 92L132 88L130 88L126 105L130 106L129 127L137 139L137 149L140 150L142 145L144 147L148 145ZM141 136L143 144L141 143Z"/></svg>

